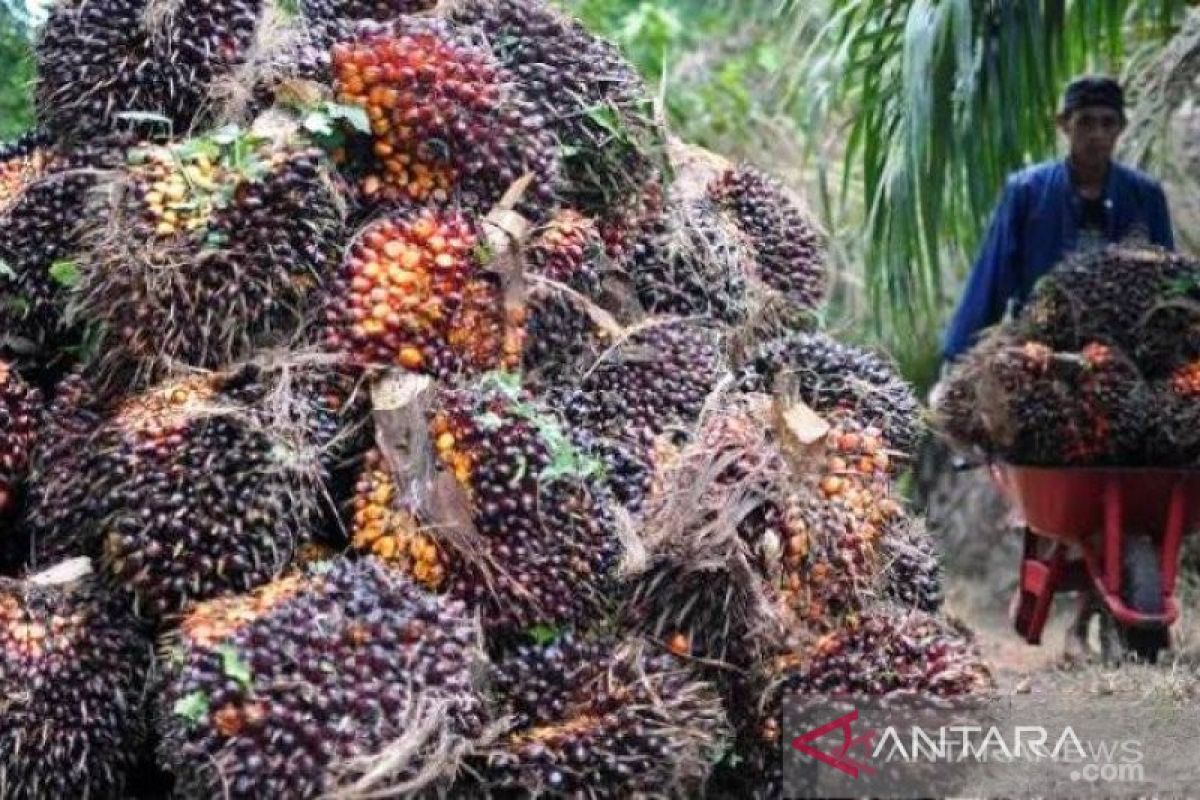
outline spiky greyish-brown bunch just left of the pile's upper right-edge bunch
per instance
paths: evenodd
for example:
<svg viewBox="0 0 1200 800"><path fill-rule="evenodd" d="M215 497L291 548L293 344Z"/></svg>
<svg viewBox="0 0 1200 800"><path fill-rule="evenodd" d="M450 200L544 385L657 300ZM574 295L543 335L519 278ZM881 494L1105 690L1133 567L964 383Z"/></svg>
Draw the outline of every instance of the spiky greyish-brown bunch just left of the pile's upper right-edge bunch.
<svg viewBox="0 0 1200 800"><path fill-rule="evenodd" d="M628 270L652 314L743 321L752 253L746 237L707 197L672 196L632 241Z"/></svg>

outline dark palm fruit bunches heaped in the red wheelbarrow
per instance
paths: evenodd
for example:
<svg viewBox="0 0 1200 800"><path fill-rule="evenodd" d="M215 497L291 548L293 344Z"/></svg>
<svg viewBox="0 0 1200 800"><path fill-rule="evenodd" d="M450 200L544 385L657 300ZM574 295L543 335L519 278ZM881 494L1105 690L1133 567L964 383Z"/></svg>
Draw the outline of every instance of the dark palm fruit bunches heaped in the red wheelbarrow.
<svg viewBox="0 0 1200 800"><path fill-rule="evenodd" d="M952 369L955 444L1037 467L1200 465L1200 263L1134 241L1078 254Z"/></svg>

